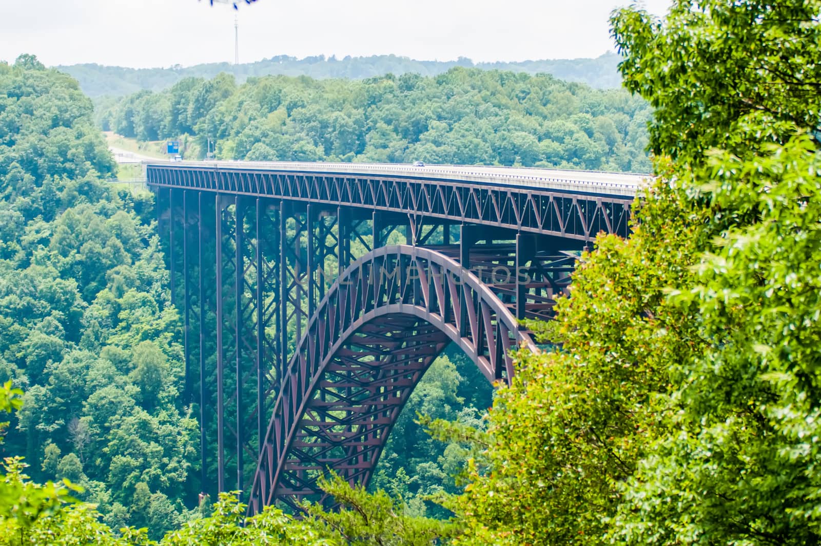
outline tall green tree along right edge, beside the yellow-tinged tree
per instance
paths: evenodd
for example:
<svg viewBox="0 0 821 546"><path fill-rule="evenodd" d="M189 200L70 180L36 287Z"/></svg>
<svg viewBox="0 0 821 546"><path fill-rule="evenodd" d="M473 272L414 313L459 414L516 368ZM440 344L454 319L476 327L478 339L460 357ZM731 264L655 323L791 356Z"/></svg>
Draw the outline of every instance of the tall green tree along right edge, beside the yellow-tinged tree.
<svg viewBox="0 0 821 546"><path fill-rule="evenodd" d="M819 10L677 2L663 24L635 10L614 18L628 85L658 105L654 147L677 158L710 236L695 286L671 302L699 317L708 343L676 370L671 432L626 484L617 540L819 540L806 441L821 406L810 318L821 261L810 228L821 202Z"/></svg>

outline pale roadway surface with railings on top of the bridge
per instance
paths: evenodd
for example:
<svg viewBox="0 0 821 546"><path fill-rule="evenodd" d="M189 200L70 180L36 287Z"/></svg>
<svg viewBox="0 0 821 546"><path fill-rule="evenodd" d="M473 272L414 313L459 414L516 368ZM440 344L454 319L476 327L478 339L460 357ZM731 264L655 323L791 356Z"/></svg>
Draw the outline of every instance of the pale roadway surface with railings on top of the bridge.
<svg viewBox="0 0 821 546"><path fill-rule="evenodd" d="M649 174L606 173L565 169L521 167L486 167L481 165L431 164L415 167L410 164L374 163L307 163L294 161L162 161L147 164L197 167L224 170L264 170L283 174L351 174L378 178L416 178L470 182L477 185L507 187L539 187L559 192L585 192L600 195L633 197L636 190L652 178Z"/></svg>

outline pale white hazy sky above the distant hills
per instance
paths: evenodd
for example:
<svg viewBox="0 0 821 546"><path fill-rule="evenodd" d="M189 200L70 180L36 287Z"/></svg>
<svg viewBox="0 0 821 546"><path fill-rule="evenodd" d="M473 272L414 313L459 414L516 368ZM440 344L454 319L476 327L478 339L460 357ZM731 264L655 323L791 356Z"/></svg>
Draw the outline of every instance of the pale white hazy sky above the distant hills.
<svg viewBox="0 0 821 546"><path fill-rule="evenodd" d="M598 57L608 15L631 0L258 0L235 12L208 0L0 0L0 60L125 67L240 62L275 55L475 61ZM646 0L663 14L670 0Z"/></svg>

